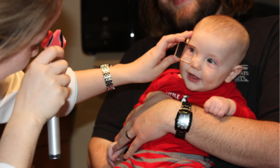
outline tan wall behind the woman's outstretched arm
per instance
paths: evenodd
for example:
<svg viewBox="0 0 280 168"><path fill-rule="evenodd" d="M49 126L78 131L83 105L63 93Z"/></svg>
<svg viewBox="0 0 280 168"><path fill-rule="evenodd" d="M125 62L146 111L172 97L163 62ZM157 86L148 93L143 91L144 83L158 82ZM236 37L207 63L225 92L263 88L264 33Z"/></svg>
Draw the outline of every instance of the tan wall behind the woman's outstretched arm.
<svg viewBox="0 0 280 168"><path fill-rule="evenodd" d="M56 29L62 29L66 38L65 59L73 70L99 67L104 63L114 65L123 56L123 53L102 53L96 56L87 56L83 53L80 32L80 1L78 0L63 1L62 13L51 30L55 31ZM71 137L72 168L87 167L87 144L90 142L94 121L104 96L104 94L96 96L76 105L73 135Z"/></svg>

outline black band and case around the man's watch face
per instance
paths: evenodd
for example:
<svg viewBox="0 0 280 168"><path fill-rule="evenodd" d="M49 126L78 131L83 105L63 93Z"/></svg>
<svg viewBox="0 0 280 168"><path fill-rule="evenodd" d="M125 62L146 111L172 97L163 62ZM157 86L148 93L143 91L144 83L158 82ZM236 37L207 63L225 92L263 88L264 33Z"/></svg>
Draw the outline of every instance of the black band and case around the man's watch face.
<svg viewBox="0 0 280 168"><path fill-rule="evenodd" d="M186 136L186 132L188 132L190 130L190 125L192 123L193 120L193 113L191 112L192 109L192 104L189 102L182 102L182 106L181 109L179 109L179 112L176 116L175 119L175 130L176 130L176 134L175 137L179 138L179 139L185 139ZM179 117L180 115L187 115L188 118L186 120L186 122L188 123L184 123L184 125L188 125L186 127L186 129L183 128L179 128Z"/></svg>

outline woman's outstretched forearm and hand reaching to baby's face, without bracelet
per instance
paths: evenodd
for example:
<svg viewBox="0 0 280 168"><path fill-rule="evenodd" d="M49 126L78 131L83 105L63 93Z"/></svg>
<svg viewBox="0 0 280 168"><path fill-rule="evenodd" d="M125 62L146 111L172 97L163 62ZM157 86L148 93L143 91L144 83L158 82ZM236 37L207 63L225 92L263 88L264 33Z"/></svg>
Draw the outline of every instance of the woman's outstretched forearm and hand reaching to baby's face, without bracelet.
<svg viewBox="0 0 280 168"><path fill-rule="evenodd" d="M118 64L109 68L114 86L130 83L151 82L168 66L179 62L176 56L167 56L166 50L192 36L192 31L164 36L158 44L139 59L127 64ZM106 91L102 70L81 70L76 72L78 81L77 102Z"/></svg>

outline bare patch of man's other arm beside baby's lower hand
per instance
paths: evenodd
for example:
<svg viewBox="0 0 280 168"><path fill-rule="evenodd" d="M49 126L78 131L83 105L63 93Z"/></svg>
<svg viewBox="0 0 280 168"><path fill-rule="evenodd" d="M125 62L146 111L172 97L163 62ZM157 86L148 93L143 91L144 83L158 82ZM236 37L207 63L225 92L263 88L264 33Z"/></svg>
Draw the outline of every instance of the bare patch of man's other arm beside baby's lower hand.
<svg viewBox="0 0 280 168"><path fill-rule="evenodd" d="M92 137L90 139L87 155L88 167L111 167L106 160L107 147L111 143L111 141L99 137Z"/></svg>

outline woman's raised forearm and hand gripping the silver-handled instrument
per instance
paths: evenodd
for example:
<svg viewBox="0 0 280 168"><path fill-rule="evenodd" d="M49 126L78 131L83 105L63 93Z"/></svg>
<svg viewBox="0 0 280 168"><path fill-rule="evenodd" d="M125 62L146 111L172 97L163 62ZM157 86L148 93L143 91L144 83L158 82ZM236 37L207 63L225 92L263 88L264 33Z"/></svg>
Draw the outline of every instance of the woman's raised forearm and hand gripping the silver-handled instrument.
<svg viewBox="0 0 280 168"><path fill-rule="evenodd" d="M31 167L38 136L48 119L55 116L68 96L68 64L61 47L49 47L30 64L22 79L13 114L0 142L0 162Z"/></svg>

